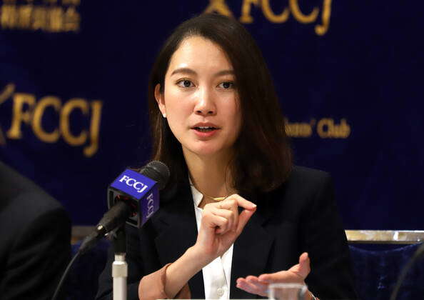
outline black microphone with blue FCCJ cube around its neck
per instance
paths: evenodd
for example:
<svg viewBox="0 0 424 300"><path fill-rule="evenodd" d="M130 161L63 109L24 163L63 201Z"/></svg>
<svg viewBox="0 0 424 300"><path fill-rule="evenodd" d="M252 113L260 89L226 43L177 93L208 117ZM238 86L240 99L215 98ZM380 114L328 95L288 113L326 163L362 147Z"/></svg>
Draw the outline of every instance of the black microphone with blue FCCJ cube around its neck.
<svg viewBox="0 0 424 300"><path fill-rule="evenodd" d="M79 252L85 253L103 236L125 222L140 228L159 209L158 190L168 183L169 169L161 161L151 161L139 172L123 171L108 187L108 211L96 229L84 239Z"/></svg>

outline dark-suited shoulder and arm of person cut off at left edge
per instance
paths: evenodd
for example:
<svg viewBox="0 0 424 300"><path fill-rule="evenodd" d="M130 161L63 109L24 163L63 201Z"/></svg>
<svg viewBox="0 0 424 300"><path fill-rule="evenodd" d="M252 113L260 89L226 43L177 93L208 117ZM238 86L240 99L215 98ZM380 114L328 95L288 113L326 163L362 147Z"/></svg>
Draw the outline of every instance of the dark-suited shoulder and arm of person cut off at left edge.
<svg viewBox="0 0 424 300"><path fill-rule="evenodd" d="M51 299L70 241L71 222L59 202L0 162L1 299Z"/></svg>

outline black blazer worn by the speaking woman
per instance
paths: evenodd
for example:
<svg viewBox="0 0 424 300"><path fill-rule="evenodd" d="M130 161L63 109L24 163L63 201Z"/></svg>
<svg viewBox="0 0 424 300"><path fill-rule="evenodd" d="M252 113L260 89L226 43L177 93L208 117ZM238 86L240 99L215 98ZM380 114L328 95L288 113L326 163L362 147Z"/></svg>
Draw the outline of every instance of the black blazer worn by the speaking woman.
<svg viewBox="0 0 424 300"><path fill-rule="evenodd" d="M232 299L260 298L236 288L236 279L291 268L307 251L309 289L320 299L357 299L350 254L330 176L295 167L285 184L266 194L242 195L258 205L234 243ZM128 299L138 299L142 276L173 262L196 242L196 216L188 184L161 196L161 209L137 232L127 226ZM99 278L98 299L111 299L110 251ZM188 281L191 296L204 299L203 276Z"/></svg>

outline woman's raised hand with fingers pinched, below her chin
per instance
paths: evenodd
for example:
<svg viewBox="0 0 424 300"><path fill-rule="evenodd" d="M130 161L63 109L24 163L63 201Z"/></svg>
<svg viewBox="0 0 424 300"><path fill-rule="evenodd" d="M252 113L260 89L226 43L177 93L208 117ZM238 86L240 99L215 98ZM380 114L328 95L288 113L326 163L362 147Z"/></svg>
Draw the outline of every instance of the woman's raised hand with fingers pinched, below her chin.
<svg viewBox="0 0 424 300"><path fill-rule="evenodd" d="M238 206L243 208L238 214ZM256 204L238 194L225 200L206 204L196 244L192 247L204 264L222 256L243 231L256 211Z"/></svg>

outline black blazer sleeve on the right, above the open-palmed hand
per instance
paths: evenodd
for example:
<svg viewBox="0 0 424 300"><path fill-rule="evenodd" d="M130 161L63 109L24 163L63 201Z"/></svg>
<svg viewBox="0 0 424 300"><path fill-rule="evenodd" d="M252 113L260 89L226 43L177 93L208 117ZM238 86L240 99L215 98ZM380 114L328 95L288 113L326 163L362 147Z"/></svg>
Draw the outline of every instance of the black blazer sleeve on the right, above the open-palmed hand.
<svg viewBox="0 0 424 300"><path fill-rule="evenodd" d="M321 300L358 299L333 181L329 174L321 174L316 192L301 214L301 249L307 251L311 259L306 284Z"/></svg>

